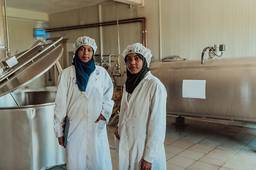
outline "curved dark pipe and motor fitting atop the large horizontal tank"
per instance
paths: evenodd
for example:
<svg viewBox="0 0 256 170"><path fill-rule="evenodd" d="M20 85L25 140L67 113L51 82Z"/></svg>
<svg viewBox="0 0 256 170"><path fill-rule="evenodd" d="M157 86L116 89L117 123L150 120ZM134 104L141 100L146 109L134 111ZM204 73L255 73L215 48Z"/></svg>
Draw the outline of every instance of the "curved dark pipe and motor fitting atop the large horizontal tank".
<svg viewBox="0 0 256 170"><path fill-rule="evenodd" d="M214 45L213 47L205 47L201 55L201 64L204 63L203 55L208 49L209 49L209 53L208 53L209 59L215 58L215 56L221 57L223 55L223 51L225 51L225 45Z"/></svg>

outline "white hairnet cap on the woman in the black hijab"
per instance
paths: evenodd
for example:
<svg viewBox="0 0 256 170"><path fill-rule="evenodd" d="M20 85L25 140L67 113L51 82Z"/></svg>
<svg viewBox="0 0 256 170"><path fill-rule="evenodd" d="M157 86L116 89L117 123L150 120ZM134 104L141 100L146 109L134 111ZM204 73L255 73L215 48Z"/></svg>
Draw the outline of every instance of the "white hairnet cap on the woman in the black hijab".
<svg viewBox="0 0 256 170"><path fill-rule="evenodd" d="M137 43L134 43L133 45L128 45L127 48L122 53L122 56L125 58L127 55L133 52L143 55L143 57L146 58L146 62L148 64L147 67L149 67L149 63L152 57L151 50L144 47L141 43L137 42Z"/></svg>

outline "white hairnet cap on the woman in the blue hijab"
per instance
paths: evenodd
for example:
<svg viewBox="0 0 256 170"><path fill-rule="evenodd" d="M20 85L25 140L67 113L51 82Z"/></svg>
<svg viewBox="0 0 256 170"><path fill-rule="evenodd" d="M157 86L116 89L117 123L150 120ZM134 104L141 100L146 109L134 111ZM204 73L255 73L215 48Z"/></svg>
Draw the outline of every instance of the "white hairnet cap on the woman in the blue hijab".
<svg viewBox="0 0 256 170"><path fill-rule="evenodd" d="M84 36L84 37L80 37L78 38L78 40L75 41L75 44L73 45L73 47L75 48L75 51L78 50L79 47L81 47L82 45L90 45L90 47L92 47L94 53L97 50L97 45L95 42L95 39Z"/></svg>

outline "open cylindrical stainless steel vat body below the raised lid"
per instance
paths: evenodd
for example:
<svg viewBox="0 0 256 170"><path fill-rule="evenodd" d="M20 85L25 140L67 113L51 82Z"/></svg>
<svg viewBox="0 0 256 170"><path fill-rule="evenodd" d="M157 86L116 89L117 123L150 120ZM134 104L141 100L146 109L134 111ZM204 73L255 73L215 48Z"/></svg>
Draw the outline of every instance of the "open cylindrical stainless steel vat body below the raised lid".
<svg viewBox="0 0 256 170"><path fill-rule="evenodd" d="M55 92L0 97L0 169L48 169L65 164L65 149L53 131Z"/></svg>

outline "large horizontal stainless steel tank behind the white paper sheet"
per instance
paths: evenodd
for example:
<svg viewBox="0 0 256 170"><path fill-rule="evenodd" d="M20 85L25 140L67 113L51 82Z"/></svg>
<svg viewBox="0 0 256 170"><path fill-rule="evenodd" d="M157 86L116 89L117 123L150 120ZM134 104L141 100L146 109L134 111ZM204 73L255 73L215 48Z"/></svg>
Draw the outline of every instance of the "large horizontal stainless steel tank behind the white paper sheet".
<svg viewBox="0 0 256 170"><path fill-rule="evenodd" d="M166 87L167 113L256 121L256 57L151 63ZM206 80L206 99L183 98L183 79Z"/></svg>

